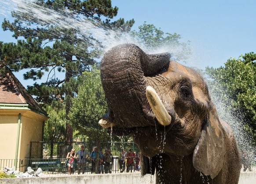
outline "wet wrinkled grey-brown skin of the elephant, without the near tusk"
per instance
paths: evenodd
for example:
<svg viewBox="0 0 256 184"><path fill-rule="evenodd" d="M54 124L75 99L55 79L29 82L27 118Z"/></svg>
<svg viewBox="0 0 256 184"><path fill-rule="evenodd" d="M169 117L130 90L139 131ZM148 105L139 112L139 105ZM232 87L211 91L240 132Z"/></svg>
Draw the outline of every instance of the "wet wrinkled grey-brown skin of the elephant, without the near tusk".
<svg viewBox="0 0 256 184"><path fill-rule="evenodd" d="M157 183L237 184L240 155L230 126L220 121L203 78L138 46L113 47L102 58L101 79L114 134L132 134L143 154L142 175L156 166ZM155 89L172 120L162 126L146 98ZM151 160L149 162L149 159Z"/></svg>

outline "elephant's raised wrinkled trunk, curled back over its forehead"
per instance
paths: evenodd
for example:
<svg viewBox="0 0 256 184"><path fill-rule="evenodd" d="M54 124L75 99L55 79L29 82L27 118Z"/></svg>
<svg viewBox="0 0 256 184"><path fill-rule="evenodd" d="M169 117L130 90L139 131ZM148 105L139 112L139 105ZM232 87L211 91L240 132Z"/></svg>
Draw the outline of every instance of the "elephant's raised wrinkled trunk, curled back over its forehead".
<svg viewBox="0 0 256 184"><path fill-rule="evenodd" d="M100 70L110 123L119 127L153 125L146 77L167 68L169 60L169 53L148 55L133 44L119 45L105 53Z"/></svg>

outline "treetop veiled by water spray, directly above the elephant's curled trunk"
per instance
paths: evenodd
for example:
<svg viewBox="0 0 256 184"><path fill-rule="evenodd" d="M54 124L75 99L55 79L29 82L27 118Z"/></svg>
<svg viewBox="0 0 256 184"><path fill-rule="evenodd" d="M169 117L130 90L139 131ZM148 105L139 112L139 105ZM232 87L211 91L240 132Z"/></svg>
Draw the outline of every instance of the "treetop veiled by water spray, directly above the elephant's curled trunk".
<svg viewBox="0 0 256 184"><path fill-rule="evenodd" d="M161 47L176 49L176 60L184 60L187 55L191 54L191 50L187 43L180 42L181 35L177 33L168 33L156 28L153 24L146 24L139 26L139 32L132 31L133 38L138 40L141 44L150 50L160 49Z"/></svg>

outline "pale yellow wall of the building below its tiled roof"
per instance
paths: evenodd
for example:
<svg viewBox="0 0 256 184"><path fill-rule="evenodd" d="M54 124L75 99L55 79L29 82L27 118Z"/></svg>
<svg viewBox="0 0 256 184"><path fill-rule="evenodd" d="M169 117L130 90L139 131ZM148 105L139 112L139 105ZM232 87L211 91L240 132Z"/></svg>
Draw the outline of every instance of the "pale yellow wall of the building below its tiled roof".
<svg viewBox="0 0 256 184"><path fill-rule="evenodd" d="M21 113L18 159L29 157L31 141L42 140L42 127L47 117L31 110L0 109L0 159L15 159L18 114ZM40 157L40 146L34 146L33 154Z"/></svg>

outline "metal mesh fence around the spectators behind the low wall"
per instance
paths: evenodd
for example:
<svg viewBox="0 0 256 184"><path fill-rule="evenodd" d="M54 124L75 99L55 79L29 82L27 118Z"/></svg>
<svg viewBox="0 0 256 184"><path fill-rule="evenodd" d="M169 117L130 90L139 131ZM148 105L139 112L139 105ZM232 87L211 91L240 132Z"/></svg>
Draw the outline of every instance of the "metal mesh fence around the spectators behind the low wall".
<svg viewBox="0 0 256 184"><path fill-rule="evenodd" d="M80 146L84 145L85 150L91 153L94 146L98 146L99 152L104 153L105 149L110 149L113 155L113 162L111 163L111 172L120 173L119 160L121 149L133 149L135 153L139 153L139 148L134 142L71 142L69 145L65 145L64 142L30 142L29 157L25 159L0 159L0 170L4 170L4 167L13 167L17 165L15 170L20 172L26 172L30 166L33 170L41 168L46 174L64 175L68 174L69 170L66 165L66 155L71 149L75 149L75 152L80 150ZM35 154L36 149L41 150L41 154ZM15 164L16 162L16 164ZM74 159L72 174L78 174L78 162ZM84 164L80 166L80 173L84 170L85 174L91 173L91 159L89 156L84 158ZM103 166L104 170L104 166ZM252 171L256 172L256 161L253 157L248 157L245 160L242 159L241 172ZM104 172L103 172L104 173Z"/></svg>

